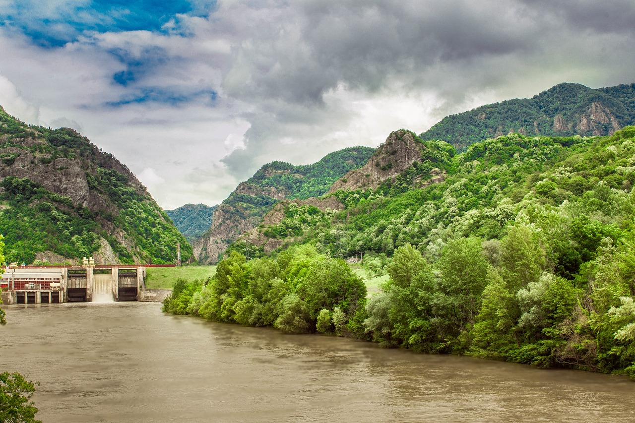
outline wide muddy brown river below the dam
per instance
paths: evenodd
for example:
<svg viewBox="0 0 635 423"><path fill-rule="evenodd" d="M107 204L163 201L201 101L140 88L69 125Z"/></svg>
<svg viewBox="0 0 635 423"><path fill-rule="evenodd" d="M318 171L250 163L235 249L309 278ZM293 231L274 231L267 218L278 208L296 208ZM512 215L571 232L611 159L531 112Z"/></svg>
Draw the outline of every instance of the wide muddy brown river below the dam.
<svg viewBox="0 0 635 423"><path fill-rule="evenodd" d="M222 325L159 304L5 307L46 422L633 422L625 377Z"/></svg>

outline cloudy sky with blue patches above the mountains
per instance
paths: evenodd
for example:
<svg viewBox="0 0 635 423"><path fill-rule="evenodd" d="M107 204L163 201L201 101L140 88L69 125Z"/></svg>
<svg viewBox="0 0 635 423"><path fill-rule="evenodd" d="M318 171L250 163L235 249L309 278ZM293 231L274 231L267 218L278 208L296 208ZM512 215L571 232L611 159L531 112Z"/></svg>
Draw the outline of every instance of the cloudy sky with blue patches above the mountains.
<svg viewBox="0 0 635 423"><path fill-rule="evenodd" d="M0 105L212 206L270 161L635 83L634 41L632 0L0 0Z"/></svg>

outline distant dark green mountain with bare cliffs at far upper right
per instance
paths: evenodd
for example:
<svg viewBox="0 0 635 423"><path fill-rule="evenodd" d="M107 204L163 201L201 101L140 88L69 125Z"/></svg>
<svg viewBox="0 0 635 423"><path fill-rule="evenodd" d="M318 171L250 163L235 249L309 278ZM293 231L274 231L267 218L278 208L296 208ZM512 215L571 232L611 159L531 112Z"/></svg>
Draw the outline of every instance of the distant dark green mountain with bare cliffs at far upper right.
<svg viewBox="0 0 635 423"><path fill-rule="evenodd" d="M558 84L532 98L516 98L445 117L420 134L445 140L459 151L474 142L510 132L521 135L612 135L635 123L635 84L593 90Z"/></svg>

